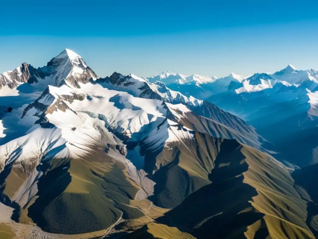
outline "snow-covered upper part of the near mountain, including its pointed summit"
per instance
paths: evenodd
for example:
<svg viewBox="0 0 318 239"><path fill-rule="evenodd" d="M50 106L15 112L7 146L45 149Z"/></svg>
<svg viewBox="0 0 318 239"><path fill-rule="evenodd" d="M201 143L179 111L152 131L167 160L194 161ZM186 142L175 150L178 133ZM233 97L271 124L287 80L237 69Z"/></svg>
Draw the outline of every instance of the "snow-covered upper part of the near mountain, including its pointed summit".
<svg viewBox="0 0 318 239"><path fill-rule="evenodd" d="M24 71L26 66L29 71ZM12 105L12 110L1 119L0 165L21 160L39 164L53 156L79 157L90 152L93 145L107 145L113 150L126 141L144 141L149 147L156 147L190 139L192 130L180 125L184 117L192 113L190 108L202 116L213 113L216 117L213 120L220 120L221 131L233 132L233 135L245 134L245 130L248 134L253 132L255 142L259 137L252 128L243 126L241 120L233 118L236 121L231 122L228 116L223 116L225 112L215 106L207 106L203 100L187 97L156 81L179 77L179 83L201 85L214 83L216 77L185 77L165 72L153 77L150 83L149 79L115 72L110 77L98 78L78 54L68 49L45 67L34 69L22 65L12 72L1 77L16 86L3 85L0 95L17 97L14 100L18 99L20 104ZM242 80L235 74L231 77L238 82ZM7 111L11 102L3 104ZM198 122L200 120L198 118ZM234 131L230 128L233 125L236 125ZM127 153L132 160L142 160L135 148Z"/></svg>

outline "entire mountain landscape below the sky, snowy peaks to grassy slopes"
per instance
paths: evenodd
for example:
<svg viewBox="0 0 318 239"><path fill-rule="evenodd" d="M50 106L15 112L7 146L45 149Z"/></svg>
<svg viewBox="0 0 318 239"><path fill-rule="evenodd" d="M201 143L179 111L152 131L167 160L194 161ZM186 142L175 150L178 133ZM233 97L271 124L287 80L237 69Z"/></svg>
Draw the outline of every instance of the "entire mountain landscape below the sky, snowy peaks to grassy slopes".
<svg viewBox="0 0 318 239"><path fill-rule="evenodd" d="M0 236L315 238L316 79L4 72Z"/></svg>

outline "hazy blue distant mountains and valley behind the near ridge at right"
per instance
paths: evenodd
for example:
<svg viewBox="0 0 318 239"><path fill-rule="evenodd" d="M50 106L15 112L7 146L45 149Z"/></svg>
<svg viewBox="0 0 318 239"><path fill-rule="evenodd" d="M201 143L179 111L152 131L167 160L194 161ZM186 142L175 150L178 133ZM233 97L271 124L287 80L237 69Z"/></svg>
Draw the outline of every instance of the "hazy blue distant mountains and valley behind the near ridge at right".
<svg viewBox="0 0 318 239"><path fill-rule="evenodd" d="M318 126L318 70L297 70L288 65L273 74L256 73L244 78L232 73L213 79L207 83L171 83L167 87L187 97L207 100L244 119L272 142L275 150L284 152L278 156L282 160L300 166L318 163L318 143L313 140ZM174 82L172 78L170 82Z"/></svg>

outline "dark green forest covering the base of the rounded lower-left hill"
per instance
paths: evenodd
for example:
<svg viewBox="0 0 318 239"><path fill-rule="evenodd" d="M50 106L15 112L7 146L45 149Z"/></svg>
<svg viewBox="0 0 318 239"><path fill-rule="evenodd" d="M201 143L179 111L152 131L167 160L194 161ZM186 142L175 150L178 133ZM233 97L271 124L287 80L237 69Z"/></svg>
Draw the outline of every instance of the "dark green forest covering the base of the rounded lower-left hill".
<svg viewBox="0 0 318 239"><path fill-rule="evenodd" d="M121 212L105 197L93 202L96 198L91 194L63 193L40 211L38 217L32 208L28 215L44 231L62 234L99 231L120 217Z"/></svg>

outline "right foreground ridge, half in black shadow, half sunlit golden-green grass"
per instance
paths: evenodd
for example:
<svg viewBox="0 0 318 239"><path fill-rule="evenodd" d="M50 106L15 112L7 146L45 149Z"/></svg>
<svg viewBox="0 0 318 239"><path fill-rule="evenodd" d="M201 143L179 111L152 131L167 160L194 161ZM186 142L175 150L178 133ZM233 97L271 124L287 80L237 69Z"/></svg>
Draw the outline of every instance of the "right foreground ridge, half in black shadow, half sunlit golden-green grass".
<svg viewBox="0 0 318 239"><path fill-rule="evenodd" d="M192 229L197 238L314 238L305 222L306 202L271 156L224 140L209 180L158 221Z"/></svg>

